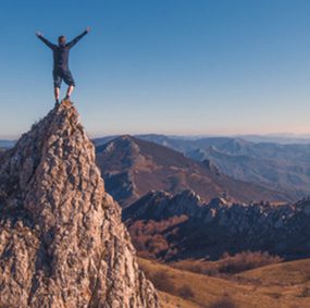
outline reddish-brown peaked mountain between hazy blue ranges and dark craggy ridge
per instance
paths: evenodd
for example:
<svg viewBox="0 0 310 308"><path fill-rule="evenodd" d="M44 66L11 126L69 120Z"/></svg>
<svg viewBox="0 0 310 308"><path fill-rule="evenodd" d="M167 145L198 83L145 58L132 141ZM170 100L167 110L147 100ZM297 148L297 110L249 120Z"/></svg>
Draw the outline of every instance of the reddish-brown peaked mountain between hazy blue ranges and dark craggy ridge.
<svg viewBox="0 0 310 308"><path fill-rule="evenodd" d="M168 147L131 136L113 139L96 151L107 190L123 207L150 190L176 194L193 189L206 201L219 196L245 202L289 199L278 192L226 176L209 161L198 162Z"/></svg>

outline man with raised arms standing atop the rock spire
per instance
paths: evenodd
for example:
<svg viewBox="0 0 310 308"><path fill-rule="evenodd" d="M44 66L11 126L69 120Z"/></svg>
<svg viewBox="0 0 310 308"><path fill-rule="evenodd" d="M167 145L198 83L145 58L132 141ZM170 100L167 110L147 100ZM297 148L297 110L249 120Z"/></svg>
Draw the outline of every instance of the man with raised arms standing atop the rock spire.
<svg viewBox="0 0 310 308"><path fill-rule="evenodd" d="M39 32L36 33L37 37L45 42L53 52L53 86L54 86L54 99L59 103L60 86L62 81L67 85L65 100L70 100L70 97L74 90L75 82L69 70L69 51L70 49L86 34L90 32L90 27L87 27L85 32L78 35L75 39L66 42L65 36L60 36L58 38L58 45L50 42L44 37Z"/></svg>

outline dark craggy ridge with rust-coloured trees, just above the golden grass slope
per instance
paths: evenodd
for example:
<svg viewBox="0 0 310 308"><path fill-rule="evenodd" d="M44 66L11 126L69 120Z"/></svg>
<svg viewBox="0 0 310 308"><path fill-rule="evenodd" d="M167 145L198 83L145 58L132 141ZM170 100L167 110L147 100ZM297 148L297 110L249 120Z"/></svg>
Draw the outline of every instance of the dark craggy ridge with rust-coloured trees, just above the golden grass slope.
<svg viewBox="0 0 310 308"><path fill-rule="evenodd" d="M123 210L141 255L164 260L218 259L225 251L261 250L284 258L310 256L310 201L273 206L206 204L189 190L151 192Z"/></svg>

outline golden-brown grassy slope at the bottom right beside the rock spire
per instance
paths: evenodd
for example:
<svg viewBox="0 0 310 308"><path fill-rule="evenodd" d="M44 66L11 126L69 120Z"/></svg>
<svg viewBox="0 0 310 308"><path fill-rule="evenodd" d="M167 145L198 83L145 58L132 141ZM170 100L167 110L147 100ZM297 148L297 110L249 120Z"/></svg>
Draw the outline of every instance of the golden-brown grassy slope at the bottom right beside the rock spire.
<svg viewBox="0 0 310 308"><path fill-rule="evenodd" d="M150 278L153 273L164 272L170 284L174 285L171 292L174 295L177 296L177 289L184 286L193 291L193 296L182 304L177 304L177 300L181 300L178 296L177 298L160 293L163 307L166 308L207 308L223 298L230 298L235 307L239 308L310 308L310 294L301 296L305 288L310 289L309 276L305 279L305 272L310 271L310 260L251 270L237 275L239 281L201 275L145 259L140 259L139 263Z"/></svg>

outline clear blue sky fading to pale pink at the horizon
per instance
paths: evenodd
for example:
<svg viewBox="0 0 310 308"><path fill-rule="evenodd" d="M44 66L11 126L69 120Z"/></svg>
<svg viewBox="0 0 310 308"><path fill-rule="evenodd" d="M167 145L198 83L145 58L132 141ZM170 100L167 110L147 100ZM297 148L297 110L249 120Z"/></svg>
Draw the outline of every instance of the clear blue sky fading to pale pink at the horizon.
<svg viewBox="0 0 310 308"><path fill-rule="evenodd" d="M35 32L87 26L70 67L91 137L310 134L308 0L1 0L0 138L54 103Z"/></svg>

